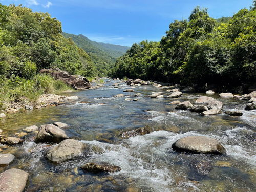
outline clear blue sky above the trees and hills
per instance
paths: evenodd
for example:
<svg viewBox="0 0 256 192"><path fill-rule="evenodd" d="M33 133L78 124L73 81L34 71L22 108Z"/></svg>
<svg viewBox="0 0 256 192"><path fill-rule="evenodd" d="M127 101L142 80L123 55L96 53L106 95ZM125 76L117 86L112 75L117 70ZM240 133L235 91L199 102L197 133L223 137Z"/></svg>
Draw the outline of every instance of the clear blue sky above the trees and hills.
<svg viewBox="0 0 256 192"><path fill-rule="evenodd" d="M208 8L213 18L232 16L249 8L252 0L0 0L48 12L64 32L91 40L131 46L142 40L160 40L171 22L187 19L194 7Z"/></svg>

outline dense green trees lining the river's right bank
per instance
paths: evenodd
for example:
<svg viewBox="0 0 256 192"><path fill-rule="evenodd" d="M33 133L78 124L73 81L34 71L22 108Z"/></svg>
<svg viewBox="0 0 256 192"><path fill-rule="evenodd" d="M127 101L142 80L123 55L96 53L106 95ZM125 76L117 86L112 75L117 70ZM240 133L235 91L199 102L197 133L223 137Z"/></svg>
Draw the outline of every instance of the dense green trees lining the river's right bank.
<svg viewBox="0 0 256 192"><path fill-rule="evenodd" d="M172 83L253 83L256 78L256 11L242 9L217 21L196 7L175 20L160 42L133 44L117 59L111 77Z"/></svg>

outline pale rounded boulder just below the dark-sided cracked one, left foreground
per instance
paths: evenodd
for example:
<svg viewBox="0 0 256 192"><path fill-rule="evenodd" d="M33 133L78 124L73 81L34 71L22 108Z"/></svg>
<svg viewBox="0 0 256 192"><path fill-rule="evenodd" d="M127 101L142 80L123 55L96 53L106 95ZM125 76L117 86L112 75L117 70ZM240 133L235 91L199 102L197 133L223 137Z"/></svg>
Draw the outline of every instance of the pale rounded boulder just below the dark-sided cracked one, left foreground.
<svg viewBox="0 0 256 192"><path fill-rule="evenodd" d="M83 143L74 139L66 139L61 141L58 146L51 148L46 157L52 162L59 163L81 155L83 149Z"/></svg>

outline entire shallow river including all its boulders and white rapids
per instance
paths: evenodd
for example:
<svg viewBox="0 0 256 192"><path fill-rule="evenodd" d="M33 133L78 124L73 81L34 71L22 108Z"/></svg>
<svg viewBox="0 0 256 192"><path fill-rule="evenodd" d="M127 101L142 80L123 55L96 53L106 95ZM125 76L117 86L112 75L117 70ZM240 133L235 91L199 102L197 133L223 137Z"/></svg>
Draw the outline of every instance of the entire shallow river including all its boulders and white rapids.
<svg viewBox="0 0 256 192"><path fill-rule="evenodd" d="M104 81L0 119L0 191L255 190L256 92Z"/></svg>

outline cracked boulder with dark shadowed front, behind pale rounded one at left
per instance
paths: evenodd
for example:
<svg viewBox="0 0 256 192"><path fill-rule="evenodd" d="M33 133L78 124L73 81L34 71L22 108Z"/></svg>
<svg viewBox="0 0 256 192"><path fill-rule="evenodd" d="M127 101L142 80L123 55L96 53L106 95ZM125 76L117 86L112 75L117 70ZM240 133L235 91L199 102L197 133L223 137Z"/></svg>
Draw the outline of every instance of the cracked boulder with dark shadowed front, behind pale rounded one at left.
<svg viewBox="0 0 256 192"><path fill-rule="evenodd" d="M48 124L48 125L41 125L40 130L35 137L35 143L39 142L54 142L58 143L62 140L69 139L66 135L65 131L60 129L59 127Z"/></svg>

